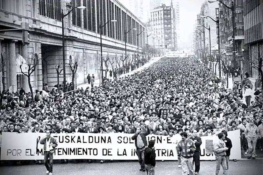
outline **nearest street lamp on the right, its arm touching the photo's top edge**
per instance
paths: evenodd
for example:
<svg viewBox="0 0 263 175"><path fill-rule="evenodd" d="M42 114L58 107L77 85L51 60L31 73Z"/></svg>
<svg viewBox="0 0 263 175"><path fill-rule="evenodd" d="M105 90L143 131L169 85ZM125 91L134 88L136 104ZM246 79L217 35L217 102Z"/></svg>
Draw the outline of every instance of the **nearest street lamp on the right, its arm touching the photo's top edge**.
<svg viewBox="0 0 263 175"><path fill-rule="evenodd" d="M217 0L218 1L218 0ZM216 2L215 0L208 0L209 3ZM236 41L235 41L235 33L236 33L236 28L235 28L235 3L234 1L231 2L231 7L227 6L224 4L222 1L218 1L222 3L226 8L230 9L232 11L232 42L233 42L233 60L234 60L234 69L236 69Z"/></svg>

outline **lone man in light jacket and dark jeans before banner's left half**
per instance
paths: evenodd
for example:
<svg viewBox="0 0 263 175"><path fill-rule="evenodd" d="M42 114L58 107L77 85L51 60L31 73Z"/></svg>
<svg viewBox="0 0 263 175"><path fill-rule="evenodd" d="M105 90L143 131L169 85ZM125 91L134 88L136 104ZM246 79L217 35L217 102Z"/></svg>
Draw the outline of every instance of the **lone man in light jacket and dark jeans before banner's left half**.
<svg viewBox="0 0 263 175"><path fill-rule="evenodd" d="M52 175L53 172L53 153L58 143L54 137L50 136L50 130L46 130L46 136L44 136L40 142L44 145L44 164L46 166L46 174Z"/></svg>

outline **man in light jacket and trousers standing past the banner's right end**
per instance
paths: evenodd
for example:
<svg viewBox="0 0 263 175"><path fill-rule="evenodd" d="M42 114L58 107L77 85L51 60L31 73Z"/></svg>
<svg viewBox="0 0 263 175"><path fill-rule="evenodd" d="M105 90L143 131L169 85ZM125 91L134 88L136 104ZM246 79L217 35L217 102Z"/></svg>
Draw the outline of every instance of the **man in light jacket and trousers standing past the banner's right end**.
<svg viewBox="0 0 263 175"><path fill-rule="evenodd" d="M255 159L257 138L259 138L259 131L253 119L249 120L249 125L245 129L245 138L248 140L248 159Z"/></svg>

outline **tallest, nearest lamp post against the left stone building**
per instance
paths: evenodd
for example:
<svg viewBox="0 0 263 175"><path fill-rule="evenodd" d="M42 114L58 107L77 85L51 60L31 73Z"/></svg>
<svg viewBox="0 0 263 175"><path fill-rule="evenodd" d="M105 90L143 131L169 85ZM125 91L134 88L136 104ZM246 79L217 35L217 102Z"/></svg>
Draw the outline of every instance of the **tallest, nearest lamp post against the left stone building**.
<svg viewBox="0 0 263 175"><path fill-rule="evenodd" d="M62 59L63 59L63 91L66 91L66 61L65 61L65 41L64 41L64 17L68 16L75 8L84 10L85 6L77 6L72 8L67 14L64 15L63 9L61 10L61 22L62 22Z"/></svg>

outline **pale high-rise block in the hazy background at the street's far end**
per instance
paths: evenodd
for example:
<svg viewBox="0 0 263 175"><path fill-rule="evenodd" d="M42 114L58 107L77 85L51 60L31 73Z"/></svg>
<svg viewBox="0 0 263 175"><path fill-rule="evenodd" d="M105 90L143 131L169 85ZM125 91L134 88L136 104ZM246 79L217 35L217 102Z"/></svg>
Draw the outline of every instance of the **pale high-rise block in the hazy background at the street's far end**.
<svg viewBox="0 0 263 175"><path fill-rule="evenodd" d="M169 50L177 50L177 42L174 40L176 33L173 13L173 8L165 4L150 11L152 45L160 45L162 48L166 45Z"/></svg>

